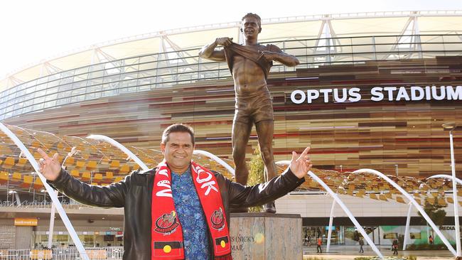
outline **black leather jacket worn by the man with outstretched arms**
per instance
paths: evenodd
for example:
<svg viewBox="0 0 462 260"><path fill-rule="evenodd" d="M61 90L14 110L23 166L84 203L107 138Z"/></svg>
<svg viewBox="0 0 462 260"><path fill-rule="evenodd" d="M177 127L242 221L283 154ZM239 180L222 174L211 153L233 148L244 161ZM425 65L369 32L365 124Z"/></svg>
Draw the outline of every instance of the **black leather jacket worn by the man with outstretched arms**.
<svg viewBox="0 0 462 260"><path fill-rule="evenodd" d="M96 207L125 207L124 257L131 260L151 260L151 200L156 168L136 170L120 181L107 186L82 183L67 171L49 182L55 189L78 202ZM281 176L254 186L243 186L215 173L220 187L226 220L230 226L230 207L254 207L286 195L303 183L286 170ZM210 253L213 255L213 252Z"/></svg>

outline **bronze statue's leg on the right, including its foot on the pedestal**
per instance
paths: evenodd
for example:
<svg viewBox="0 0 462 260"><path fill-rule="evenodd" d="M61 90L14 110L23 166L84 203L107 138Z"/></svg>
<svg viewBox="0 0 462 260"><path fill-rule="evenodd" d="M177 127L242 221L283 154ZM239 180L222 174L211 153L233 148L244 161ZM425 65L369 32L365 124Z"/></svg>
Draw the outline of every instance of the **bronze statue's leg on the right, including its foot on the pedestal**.
<svg viewBox="0 0 462 260"><path fill-rule="evenodd" d="M274 163L273 156L273 133L274 133L274 121L264 120L255 123L255 129L257 129L258 143L260 151L262 152L262 159L264 163L264 177L265 181L271 180L276 176L276 163ZM276 213L276 206L274 201L264 205L265 212Z"/></svg>

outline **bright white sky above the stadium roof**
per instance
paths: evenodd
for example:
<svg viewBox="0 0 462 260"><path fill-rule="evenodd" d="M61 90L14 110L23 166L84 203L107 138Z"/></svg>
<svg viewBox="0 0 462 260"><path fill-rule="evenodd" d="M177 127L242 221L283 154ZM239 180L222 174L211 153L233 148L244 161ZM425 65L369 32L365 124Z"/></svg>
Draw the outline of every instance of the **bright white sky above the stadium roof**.
<svg viewBox="0 0 462 260"><path fill-rule="evenodd" d="M0 79L95 43L173 28L262 18L365 11L462 10L461 0L0 1Z"/></svg>

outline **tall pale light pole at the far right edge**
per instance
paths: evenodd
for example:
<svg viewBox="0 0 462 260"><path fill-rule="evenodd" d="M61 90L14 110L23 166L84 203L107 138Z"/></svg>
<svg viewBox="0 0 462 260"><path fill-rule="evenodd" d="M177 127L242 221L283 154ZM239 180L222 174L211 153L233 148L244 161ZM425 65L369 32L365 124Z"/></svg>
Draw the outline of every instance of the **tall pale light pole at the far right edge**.
<svg viewBox="0 0 462 260"><path fill-rule="evenodd" d="M456 163L454 163L454 145L452 142L452 131L456 129L456 123L443 124L443 129L449 131L449 141L451 143L451 171L452 171L452 195L454 200L454 224L456 225L456 251L457 256L461 254L461 231L458 224L458 201L457 201L457 188L456 188Z"/></svg>

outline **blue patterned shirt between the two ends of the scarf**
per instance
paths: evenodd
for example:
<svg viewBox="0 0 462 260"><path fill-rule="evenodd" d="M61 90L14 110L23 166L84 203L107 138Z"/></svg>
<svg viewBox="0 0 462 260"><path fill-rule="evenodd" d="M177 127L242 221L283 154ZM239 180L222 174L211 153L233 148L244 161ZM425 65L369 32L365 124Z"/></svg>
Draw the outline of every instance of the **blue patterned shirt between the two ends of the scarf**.
<svg viewBox="0 0 462 260"><path fill-rule="evenodd" d="M178 175L172 172L171 189L173 202L183 228L186 259L209 260L208 227L195 191L191 170Z"/></svg>

